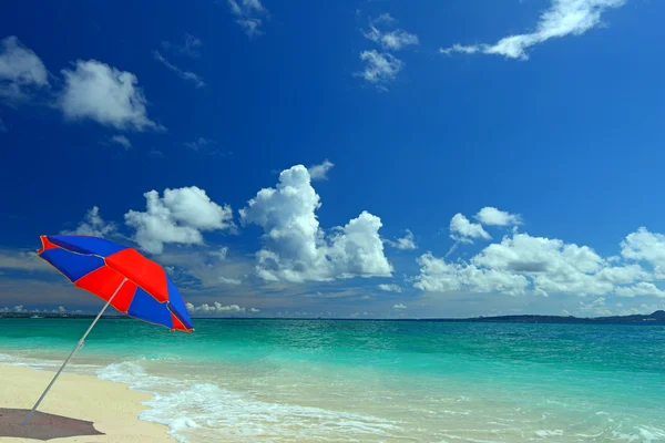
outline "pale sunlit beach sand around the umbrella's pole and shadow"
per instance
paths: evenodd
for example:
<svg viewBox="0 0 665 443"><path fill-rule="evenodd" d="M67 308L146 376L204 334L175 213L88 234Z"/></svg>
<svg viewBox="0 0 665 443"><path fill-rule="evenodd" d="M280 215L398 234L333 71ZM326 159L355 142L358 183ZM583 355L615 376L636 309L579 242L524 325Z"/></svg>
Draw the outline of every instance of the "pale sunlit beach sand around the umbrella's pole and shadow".
<svg viewBox="0 0 665 443"><path fill-rule="evenodd" d="M0 408L31 409L54 375L54 371L0 364ZM176 443L168 426L139 419L150 409L142 404L153 395L130 390L127 384L100 380L92 375L63 372L53 384L39 411L90 421L104 435L58 439L58 442ZM0 442L34 442L29 439L6 437Z"/></svg>

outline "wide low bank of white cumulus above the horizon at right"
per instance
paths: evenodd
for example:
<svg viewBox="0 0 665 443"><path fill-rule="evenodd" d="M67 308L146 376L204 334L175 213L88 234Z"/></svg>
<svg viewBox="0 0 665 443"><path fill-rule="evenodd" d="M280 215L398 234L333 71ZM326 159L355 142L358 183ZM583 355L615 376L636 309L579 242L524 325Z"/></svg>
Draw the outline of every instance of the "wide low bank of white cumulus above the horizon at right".
<svg viewBox="0 0 665 443"><path fill-rule="evenodd" d="M628 258L657 269L657 257L643 255L638 230L626 237ZM652 235L649 233L649 235ZM654 236L654 235L652 235ZM657 236L657 235L655 235ZM654 260L655 261L649 261ZM658 296L656 277L640 262L601 257L587 246L560 239L513 233L472 257L469 262L447 262L427 253L418 258L420 275L413 286L433 292L499 292L624 297Z"/></svg>

